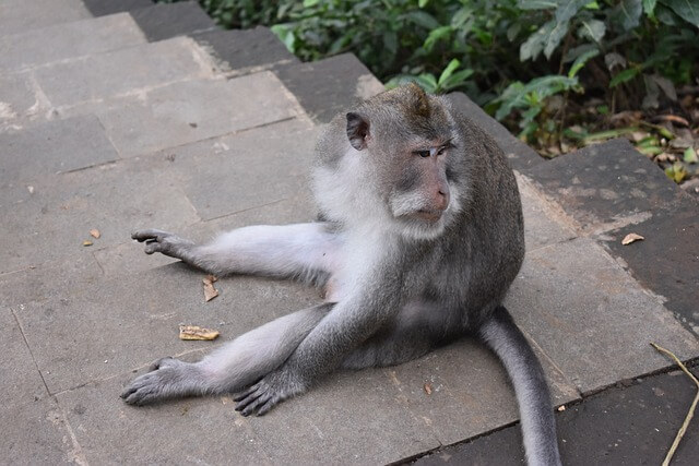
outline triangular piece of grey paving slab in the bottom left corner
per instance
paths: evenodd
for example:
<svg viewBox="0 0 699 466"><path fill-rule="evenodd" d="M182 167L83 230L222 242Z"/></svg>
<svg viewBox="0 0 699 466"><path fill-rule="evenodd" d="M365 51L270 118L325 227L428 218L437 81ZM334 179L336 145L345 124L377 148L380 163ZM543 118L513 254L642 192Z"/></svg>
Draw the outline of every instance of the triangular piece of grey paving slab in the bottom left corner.
<svg viewBox="0 0 699 466"><path fill-rule="evenodd" d="M7 464L64 464L75 452L10 308L0 308L0 455ZM10 374L10 377L7 377Z"/></svg>

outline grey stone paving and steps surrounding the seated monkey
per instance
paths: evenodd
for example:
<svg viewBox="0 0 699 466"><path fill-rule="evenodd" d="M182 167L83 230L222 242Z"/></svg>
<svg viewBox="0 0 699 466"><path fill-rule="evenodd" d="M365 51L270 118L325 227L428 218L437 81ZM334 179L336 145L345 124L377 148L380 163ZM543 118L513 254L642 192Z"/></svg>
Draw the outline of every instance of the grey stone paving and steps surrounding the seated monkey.
<svg viewBox="0 0 699 466"><path fill-rule="evenodd" d="M469 339L399 367L332 374L262 418L240 417L229 396L145 408L118 397L154 359L197 359L221 344L179 340L180 322L225 340L319 300L296 284L232 277L205 303L201 272L146 256L130 231L205 240L312 219L306 181L319 126L380 91L352 55L299 63L269 29L217 29L193 2L3 0L2 462L381 464L443 458L458 443L477 453L484 440L461 443L474 438L519 454L507 434L518 431L508 429L511 387ZM637 380L672 367L650 342L698 358L696 201L627 143L545 162L464 95L452 98L518 170L529 252L507 304L554 404L607 399L620 381L630 381L627 397L647 396ZM645 240L621 247L629 231ZM687 392L673 381L670 391ZM561 439L589 442L576 426L594 422L570 413L558 416ZM675 426L683 406L672 413ZM670 445L674 432L661 433Z"/></svg>

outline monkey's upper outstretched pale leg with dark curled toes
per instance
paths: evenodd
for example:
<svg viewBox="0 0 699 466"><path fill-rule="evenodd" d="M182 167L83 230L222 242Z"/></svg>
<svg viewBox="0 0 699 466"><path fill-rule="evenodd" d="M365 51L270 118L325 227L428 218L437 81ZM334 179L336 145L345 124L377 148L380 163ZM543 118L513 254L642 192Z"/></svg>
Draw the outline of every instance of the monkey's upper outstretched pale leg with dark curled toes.
<svg viewBox="0 0 699 466"><path fill-rule="evenodd" d="M251 226L199 246L156 229L135 231L145 253L161 252L215 275L254 274L322 282L333 268L341 239L327 223Z"/></svg>

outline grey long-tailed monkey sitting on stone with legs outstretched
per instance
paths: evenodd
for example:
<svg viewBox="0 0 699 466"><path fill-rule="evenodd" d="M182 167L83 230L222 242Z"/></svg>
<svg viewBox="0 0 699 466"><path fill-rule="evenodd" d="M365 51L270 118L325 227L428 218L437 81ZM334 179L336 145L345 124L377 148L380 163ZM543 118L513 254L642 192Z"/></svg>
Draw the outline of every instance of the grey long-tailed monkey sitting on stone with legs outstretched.
<svg viewBox="0 0 699 466"><path fill-rule="evenodd" d="M235 394L264 415L331 371L419 358L465 335L502 361L531 465L559 465L544 371L502 306L524 258L517 180L494 139L415 84L337 115L311 167L319 220L234 229L197 244L157 229L132 238L223 276L297 279L322 302L245 333L199 362L163 358L131 382L131 405Z"/></svg>

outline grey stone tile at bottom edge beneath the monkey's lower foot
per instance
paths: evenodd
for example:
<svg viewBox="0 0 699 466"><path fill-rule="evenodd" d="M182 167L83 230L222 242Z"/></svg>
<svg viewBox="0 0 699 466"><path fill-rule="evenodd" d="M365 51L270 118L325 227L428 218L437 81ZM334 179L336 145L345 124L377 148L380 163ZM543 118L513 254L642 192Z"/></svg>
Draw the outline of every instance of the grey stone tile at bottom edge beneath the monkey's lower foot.
<svg viewBox="0 0 699 466"><path fill-rule="evenodd" d="M264 439L230 398L198 398L135 408L119 394L133 373L59 394L91 464L261 464ZM225 404L223 403L225 402Z"/></svg>

